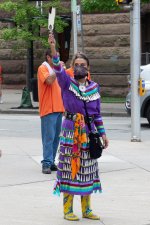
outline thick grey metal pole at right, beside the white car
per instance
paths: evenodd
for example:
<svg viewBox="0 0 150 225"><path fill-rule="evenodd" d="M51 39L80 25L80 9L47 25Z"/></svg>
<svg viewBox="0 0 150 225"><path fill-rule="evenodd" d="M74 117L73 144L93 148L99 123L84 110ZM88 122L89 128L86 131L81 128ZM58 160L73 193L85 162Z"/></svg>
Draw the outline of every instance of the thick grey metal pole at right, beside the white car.
<svg viewBox="0 0 150 225"><path fill-rule="evenodd" d="M141 65L140 0L133 1L131 19L131 141L140 142L140 95L138 92Z"/></svg>

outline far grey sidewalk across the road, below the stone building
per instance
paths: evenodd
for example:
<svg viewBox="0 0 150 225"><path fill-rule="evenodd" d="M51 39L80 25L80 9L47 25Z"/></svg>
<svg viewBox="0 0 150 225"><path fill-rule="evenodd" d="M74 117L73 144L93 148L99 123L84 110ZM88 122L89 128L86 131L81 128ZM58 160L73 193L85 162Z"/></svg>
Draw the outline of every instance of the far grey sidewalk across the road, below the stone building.
<svg viewBox="0 0 150 225"><path fill-rule="evenodd" d="M36 109L16 109L21 104L22 90L4 89L3 90L3 104L0 104L0 113L7 114L38 114L38 102L31 99L33 107ZM15 108L15 109L14 109ZM124 104L121 103L102 103L101 106L102 116L127 116Z"/></svg>

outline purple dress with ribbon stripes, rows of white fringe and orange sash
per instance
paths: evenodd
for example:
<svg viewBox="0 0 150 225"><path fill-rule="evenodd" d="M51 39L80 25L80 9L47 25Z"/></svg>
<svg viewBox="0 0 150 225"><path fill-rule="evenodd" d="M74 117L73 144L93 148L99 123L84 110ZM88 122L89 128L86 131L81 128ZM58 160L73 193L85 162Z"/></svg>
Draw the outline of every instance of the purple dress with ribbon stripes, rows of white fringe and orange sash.
<svg viewBox="0 0 150 225"><path fill-rule="evenodd" d="M61 87L65 110L84 118L86 113L83 100L86 101L88 114L94 118L91 124L92 129L96 129L100 136L105 134L100 115L99 85L93 81L88 81L88 85L81 96L78 82L66 74L57 56L53 57L53 64ZM60 192L65 192L71 195L90 195L93 192L101 192L98 162L96 159L90 158L88 138L86 141L83 138L83 141L80 142L80 147L78 146L77 154L76 152L74 154L76 147L75 122L66 118L63 120L54 194L59 195ZM78 131L79 128L80 134L84 135L85 133L86 137L88 137L89 130L84 122L81 127L77 128Z"/></svg>

